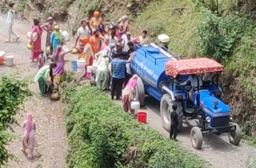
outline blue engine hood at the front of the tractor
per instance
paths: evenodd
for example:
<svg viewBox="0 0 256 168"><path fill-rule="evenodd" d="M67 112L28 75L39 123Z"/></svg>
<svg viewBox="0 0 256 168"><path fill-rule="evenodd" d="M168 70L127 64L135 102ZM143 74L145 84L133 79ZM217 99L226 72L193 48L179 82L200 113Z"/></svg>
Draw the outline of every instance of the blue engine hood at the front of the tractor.
<svg viewBox="0 0 256 168"><path fill-rule="evenodd" d="M199 92L201 110L205 113L215 117L231 115L230 108L217 99L209 90L201 90Z"/></svg>

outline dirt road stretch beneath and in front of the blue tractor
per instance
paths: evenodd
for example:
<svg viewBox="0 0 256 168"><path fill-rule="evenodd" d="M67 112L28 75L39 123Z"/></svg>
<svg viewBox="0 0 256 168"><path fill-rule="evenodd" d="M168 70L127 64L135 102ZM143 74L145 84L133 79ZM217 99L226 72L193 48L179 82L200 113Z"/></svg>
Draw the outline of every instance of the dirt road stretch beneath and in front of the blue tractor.
<svg viewBox="0 0 256 168"><path fill-rule="evenodd" d="M119 105L122 102L116 102ZM160 118L160 104L152 97L146 97L145 108L140 111L147 112L148 124L163 134L165 137L169 137L169 133L163 128ZM246 167L249 162L252 163L256 160L256 148L250 147L245 143L240 143L239 146L233 146L228 141L227 134L221 136L208 135L203 136L204 142L201 150L195 150L191 146L190 142L190 129L194 122L183 122L183 129L178 134L178 142L182 147L187 148L189 151L203 158L209 162L212 167L223 168L223 167ZM253 165L256 167L256 165Z"/></svg>

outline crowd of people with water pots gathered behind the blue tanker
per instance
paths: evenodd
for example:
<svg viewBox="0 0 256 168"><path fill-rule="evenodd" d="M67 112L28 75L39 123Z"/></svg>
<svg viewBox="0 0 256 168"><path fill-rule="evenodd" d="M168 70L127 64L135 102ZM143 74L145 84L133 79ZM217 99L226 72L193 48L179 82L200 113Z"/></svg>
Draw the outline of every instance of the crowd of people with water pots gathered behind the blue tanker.
<svg viewBox="0 0 256 168"><path fill-rule="evenodd" d="M53 79L57 85L60 84L65 67L64 56L77 48L79 52L78 59L86 60L85 71L81 79L84 77L91 78L87 68L92 66L96 60L96 86L101 90L111 88L111 98L113 100L114 98L116 100L120 99L122 88L127 86L129 79L132 77L129 63L135 52L135 44L149 44L147 31L142 31L139 38L133 38L131 32L129 32L128 16L124 15L116 23L112 22L110 25L105 25L100 12L95 11L91 20L80 22L73 48L64 50L62 45L65 42L65 37L60 31L60 25L53 21L52 16L48 16L46 21L46 24L41 24L38 19L34 19L34 26L30 35L30 43L34 46L31 55L32 63L35 59L38 60L38 73L34 81L39 82L41 93L45 94L49 91L50 87L48 85L53 84ZM46 54L46 58L43 56L41 45L43 30L47 32L46 48L51 49L52 57L49 53ZM36 40L33 39L35 33L37 34ZM49 58L53 63L50 66L44 66L45 60ZM136 78L132 79L134 81ZM133 87L125 89L126 92L132 91L131 88ZM122 97L124 99L127 96ZM131 103L126 98L123 102Z"/></svg>

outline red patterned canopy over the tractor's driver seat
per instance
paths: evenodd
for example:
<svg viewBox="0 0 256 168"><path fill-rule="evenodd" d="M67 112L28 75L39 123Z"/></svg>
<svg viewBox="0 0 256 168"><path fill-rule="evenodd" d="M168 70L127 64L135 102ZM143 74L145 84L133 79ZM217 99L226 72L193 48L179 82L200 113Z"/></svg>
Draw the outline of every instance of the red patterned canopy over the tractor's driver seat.
<svg viewBox="0 0 256 168"><path fill-rule="evenodd" d="M221 72L223 70L222 64L209 58L170 60L165 64L165 74L174 78L178 74Z"/></svg>

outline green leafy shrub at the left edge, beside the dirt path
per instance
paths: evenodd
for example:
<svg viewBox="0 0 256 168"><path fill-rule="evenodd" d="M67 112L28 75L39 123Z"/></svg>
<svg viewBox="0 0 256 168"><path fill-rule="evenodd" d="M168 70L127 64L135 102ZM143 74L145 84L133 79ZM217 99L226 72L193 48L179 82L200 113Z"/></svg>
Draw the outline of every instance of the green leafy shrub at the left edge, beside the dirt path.
<svg viewBox="0 0 256 168"><path fill-rule="evenodd" d="M7 133L11 124L16 123L14 118L19 105L26 96L30 95L27 80L17 80L15 77L0 76L0 166L5 166L8 159L12 159L5 145L11 141L12 135Z"/></svg>

